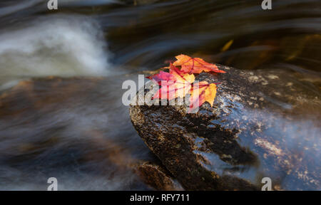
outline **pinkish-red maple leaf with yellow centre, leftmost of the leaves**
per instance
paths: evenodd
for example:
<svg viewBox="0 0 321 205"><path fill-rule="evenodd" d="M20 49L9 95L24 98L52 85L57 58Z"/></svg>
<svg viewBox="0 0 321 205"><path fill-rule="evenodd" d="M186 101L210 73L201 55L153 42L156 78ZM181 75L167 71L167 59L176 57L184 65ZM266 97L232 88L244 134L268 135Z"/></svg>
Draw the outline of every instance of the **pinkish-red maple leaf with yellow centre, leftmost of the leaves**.
<svg viewBox="0 0 321 205"><path fill-rule="evenodd" d="M170 63L170 72L161 71L159 74L147 77L155 80L161 88L153 95L153 99L168 99L184 98L186 94L190 93L190 88L195 80L193 74L184 73Z"/></svg>

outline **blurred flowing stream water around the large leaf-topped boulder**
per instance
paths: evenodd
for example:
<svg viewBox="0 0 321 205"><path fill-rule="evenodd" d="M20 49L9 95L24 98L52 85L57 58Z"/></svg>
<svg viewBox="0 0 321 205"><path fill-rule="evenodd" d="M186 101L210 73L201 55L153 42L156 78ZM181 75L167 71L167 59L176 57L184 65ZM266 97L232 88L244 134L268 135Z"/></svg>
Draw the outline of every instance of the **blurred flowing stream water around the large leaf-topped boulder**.
<svg viewBox="0 0 321 205"><path fill-rule="evenodd" d="M49 11L44 0L2 0L0 90L16 87L0 98L0 189L46 190L49 177L58 189L148 189L129 164L156 158L121 83L180 53L297 73L320 98L320 1L264 11L254 0L58 0ZM88 78L61 87L51 75Z"/></svg>

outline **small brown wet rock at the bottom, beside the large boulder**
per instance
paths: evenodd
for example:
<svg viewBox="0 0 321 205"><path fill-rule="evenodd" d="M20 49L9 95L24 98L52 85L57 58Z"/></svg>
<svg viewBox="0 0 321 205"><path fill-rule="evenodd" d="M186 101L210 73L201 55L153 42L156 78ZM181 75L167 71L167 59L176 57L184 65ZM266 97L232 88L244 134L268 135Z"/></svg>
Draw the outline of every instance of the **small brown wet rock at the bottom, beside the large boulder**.
<svg viewBox="0 0 321 205"><path fill-rule="evenodd" d="M176 182L170 173L161 165L153 162L143 162L136 167L136 173L145 184L158 191L179 191L182 186Z"/></svg>

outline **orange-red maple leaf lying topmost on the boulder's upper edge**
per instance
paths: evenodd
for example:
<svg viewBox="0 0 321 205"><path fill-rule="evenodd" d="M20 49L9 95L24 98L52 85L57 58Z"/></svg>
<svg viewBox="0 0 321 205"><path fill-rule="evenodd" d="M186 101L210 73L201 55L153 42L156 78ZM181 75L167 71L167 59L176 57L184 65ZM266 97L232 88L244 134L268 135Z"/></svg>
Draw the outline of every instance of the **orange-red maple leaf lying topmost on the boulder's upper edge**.
<svg viewBox="0 0 321 205"><path fill-rule="evenodd" d="M215 73L226 73L224 70L219 70L218 66L205 62L202 58L192 58L186 55L179 55L175 57L177 61L173 63L175 66L181 66L180 70L185 73L201 73L202 71Z"/></svg>

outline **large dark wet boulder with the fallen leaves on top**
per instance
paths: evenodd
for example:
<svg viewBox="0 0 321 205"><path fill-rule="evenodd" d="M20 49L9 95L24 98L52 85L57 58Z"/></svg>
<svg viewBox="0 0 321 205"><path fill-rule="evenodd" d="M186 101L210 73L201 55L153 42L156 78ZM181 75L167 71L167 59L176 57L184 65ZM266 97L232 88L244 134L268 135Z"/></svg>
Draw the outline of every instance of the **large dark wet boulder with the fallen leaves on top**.
<svg viewBox="0 0 321 205"><path fill-rule="evenodd" d="M153 153L189 190L260 190L263 177L272 189L320 189L320 90L297 73L219 68L228 73L196 77L221 83L213 107L131 105Z"/></svg>

